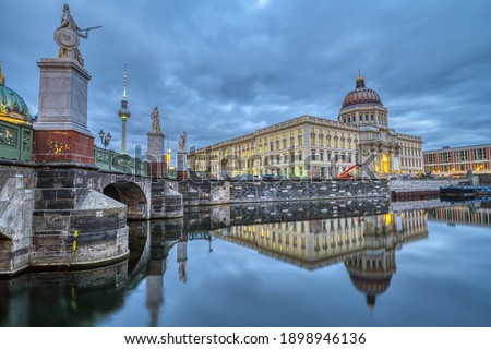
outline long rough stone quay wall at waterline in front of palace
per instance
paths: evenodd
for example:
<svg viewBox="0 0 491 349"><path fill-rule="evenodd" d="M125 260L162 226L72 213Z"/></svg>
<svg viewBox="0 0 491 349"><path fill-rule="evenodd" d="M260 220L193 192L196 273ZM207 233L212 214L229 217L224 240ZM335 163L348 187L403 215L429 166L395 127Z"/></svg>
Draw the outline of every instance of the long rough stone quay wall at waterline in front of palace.
<svg viewBox="0 0 491 349"><path fill-rule="evenodd" d="M184 205L388 197L385 180L181 182Z"/></svg>

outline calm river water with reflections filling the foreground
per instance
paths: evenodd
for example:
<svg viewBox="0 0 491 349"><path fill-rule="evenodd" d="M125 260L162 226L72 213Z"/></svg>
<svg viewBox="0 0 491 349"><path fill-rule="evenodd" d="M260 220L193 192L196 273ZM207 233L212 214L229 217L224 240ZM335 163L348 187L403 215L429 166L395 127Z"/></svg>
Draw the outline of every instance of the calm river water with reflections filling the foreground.
<svg viewBox="0 0 491 349"><path fill-rule="evenodd" d="M491 326L491 204L233 205L132 221L131 255L0 280L1 326Z"/></svg>

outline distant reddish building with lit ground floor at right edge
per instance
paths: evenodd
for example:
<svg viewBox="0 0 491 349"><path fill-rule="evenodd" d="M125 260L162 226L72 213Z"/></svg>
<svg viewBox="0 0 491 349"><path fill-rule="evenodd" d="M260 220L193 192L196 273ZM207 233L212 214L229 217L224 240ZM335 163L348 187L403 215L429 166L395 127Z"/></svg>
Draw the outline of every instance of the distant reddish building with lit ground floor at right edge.
<svg viewBox="0 0 491 349"><path fill-rule="evenodd" d="M491 173L491 144L424 151L424 171L436 176Z"/></svg>

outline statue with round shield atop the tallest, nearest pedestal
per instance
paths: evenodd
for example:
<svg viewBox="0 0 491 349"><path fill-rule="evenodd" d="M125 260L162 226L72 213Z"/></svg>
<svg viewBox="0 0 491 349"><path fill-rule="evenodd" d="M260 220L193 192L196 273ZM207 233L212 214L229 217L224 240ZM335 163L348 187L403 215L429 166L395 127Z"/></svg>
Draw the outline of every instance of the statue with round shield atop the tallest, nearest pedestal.
<svg viewBox="0 0 491 349"><path fill-rule="evenodd" d="M79 50L80 39L88 37L88 31L100 28L101 26L95 26L92 28L81 29L75 20L73 20L70 14L70 8L65 3L63 4L63 13L61 14L61 24L55 31L53 38L55 41L60 46L58 50L58 57L70 57L76 59L76 61L83 67L84 59Z"/></svg>

